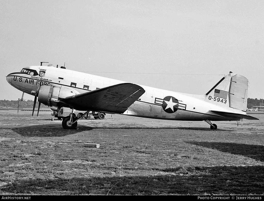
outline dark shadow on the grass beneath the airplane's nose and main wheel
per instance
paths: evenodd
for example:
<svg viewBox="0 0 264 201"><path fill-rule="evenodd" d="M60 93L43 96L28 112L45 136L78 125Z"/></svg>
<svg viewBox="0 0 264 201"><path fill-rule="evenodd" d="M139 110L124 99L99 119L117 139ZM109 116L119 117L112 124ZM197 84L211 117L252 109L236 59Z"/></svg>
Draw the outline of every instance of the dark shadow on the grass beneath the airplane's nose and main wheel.
<svg viewBox="0 0 264 201"><path fill-rule="evenodd" d="M56 124L43 124L12 128L11 130L25 137L61 137L92 129L89 126L78 125L77 129L71 130L63 129L62 126L58 127Z"/></svg>

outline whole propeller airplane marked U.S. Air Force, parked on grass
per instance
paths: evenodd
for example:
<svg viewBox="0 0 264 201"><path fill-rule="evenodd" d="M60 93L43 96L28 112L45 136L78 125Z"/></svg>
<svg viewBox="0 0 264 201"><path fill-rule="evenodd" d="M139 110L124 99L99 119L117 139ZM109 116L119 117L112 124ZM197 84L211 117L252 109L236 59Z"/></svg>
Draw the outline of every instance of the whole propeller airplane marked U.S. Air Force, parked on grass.
<svg viewBox="0 0 264 201"><path fill-rule="evenodd" d="M53 111L61 107L87 111L81 117L67 116L64 129L75 129L77 121L89 111L123 114L164 120L211 121L258 120L247 115L248 79L229 72L204 95L184 94L154 87L60 68L52 64L29 66L6 76L7 82L35 96ZM45 62L48 63L48 62ZM22 95L23 99L23 95ZM73 112L72 112L73 113ZM37 114L38 115L38 114Z"/></svg>

